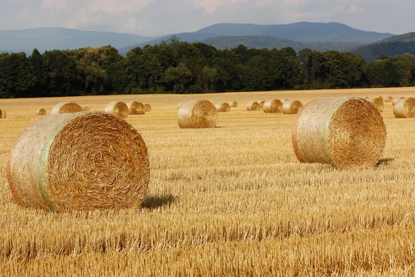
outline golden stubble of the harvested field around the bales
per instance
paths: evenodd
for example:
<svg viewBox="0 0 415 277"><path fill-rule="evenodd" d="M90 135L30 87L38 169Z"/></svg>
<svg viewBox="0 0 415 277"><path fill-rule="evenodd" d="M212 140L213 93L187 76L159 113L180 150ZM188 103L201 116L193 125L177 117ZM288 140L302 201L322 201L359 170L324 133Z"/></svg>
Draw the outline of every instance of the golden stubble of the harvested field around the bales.
<svg viewBox="0 0 415 277"><path fill-rule="evenodd" d="M414 120L394 118L378 167L336 170L299 163L295 115L252 113L249 99L415 96L415 89L273 91L140 96L154 112L127 121L149 150L141 209L46 213L17 206L0 167L0 276L413 276ZM131 96L79 97L102 110ZM180 129L176 104L241 105L214 129ZM72 100L64 98L62 101ZM59 101L61 101L59 100ZM56 98L0 100L8 118L0 163L12 141Z"/></svg>

